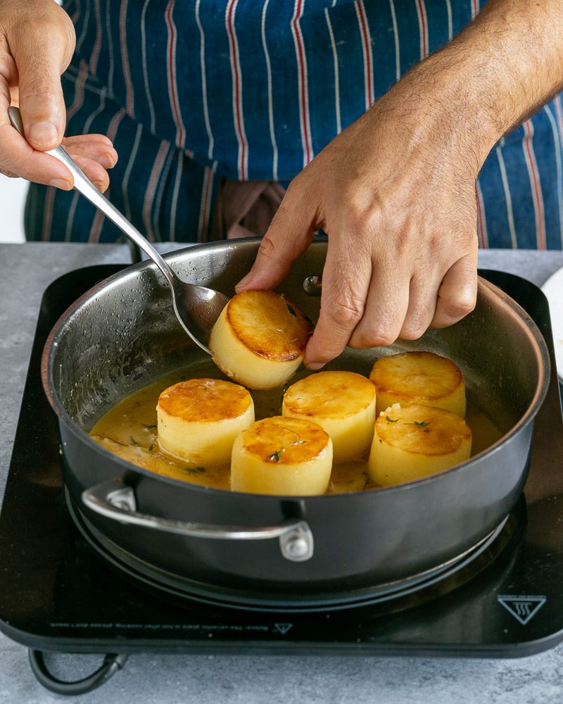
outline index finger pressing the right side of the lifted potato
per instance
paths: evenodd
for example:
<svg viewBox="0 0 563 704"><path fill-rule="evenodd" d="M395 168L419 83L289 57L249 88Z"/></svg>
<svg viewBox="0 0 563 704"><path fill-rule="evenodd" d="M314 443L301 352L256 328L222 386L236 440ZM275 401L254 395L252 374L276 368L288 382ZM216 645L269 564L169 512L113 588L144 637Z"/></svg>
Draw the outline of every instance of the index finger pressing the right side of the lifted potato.
<svg viewBox="0 0 563 704"><path fill-rule="evenodd" d="M344 237L329 237L319 320L305 350L305 365L312 370L339 356L364 313L372 263L345 243Z"/></svg>

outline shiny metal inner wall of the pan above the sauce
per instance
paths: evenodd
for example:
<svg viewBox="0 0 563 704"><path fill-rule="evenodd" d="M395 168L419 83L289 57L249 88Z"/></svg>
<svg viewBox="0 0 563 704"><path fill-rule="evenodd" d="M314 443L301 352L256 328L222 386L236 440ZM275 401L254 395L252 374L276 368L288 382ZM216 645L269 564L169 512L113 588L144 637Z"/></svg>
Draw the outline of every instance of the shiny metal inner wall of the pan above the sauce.
<svg viewBox="0 0 563 704"><path fill-rule="evenodd" d="M302 284L322 272L326 249L322 244L315 243L298 260L278 289L312 320L318 317L320 298L305 294ZM186 279L221 287L230 295L251 265L256 247L253 241L243 241L238 249L193 248L177 254L172 265ZM475 310L457 324L429 329L416 341L397 341L385 348L346 348L326 368L369 375L379 356L407 350L436 352L461 368L469 403L505 434L529 408L541 365L533 324L506 299L482 282ZM179 327L160 274L146 264L108 279L82 298L59 321L46 354L48 383L58 410L84 431L128 394L205 358Z"/></svg>

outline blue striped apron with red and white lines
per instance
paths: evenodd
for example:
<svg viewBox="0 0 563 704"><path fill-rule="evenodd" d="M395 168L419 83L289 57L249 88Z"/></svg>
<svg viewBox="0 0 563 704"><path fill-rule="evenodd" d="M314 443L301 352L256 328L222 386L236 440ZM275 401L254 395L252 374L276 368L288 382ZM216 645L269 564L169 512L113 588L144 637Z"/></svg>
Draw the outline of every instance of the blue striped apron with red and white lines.
<svg viewBox="0 0 563 704"><path fill-rule="evenodd" d="M69 0L68 134L120 154L109 197L149 239L204 241L221 177L289 182L478 0ZM476 189L481 246L561 249L561 97L503 138ZM29 239L115 241L74 193L33 186Z"/></svg>

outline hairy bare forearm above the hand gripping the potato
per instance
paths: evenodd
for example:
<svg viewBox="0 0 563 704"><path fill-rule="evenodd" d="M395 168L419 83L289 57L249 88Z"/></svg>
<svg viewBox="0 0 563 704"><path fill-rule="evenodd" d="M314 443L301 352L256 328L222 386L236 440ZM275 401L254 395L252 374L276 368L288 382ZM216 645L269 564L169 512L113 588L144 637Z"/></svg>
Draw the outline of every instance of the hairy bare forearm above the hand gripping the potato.
<svg viewBox="0 0 563 704"><path fill-rule="evenodd" d="M563 1L488 0L392 92L417 113L417 138L434 134L479 171L498 139L562 88Z"/></svg>

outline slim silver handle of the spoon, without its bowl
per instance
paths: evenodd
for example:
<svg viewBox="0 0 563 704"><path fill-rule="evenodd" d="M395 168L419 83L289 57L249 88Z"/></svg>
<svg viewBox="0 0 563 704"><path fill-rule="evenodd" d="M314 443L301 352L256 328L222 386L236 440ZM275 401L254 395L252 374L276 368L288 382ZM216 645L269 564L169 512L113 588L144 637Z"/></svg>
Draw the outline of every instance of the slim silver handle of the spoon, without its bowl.
<svg viewBox="0 0 563 704"><path fill-rule="evenodd" d="M23 132L23 121L21 117L21 113L19 108L16 108L15 106L11 106L8 108L8 115L10 116L10 122L12 123L13 127L15 127L18 132L25 137L25 134ZM124 215L120 213L120 211L115 208L113 203L108 201L106 196L104 196L100 191L94 186L94 184L89 180L87 175L82 171L82 169L77 166L77 164L72 160L70 155L63 149L62 146L57 146L55 149L50 149L49 151L45 152L46 154L50 154L51 156L54 156L58 161L61 161L66 168L70 171L72 174L72 177L74 178L74 187L77 189L77 191L80 191L83 196L85 196L96 208L102 211L106 217L108 217L115 225L119 227L119 229L129 237L129 239L132 239L135 244L139 245L139 247L146 253L148 257L150 257L153 262L158 266L161 272L165 275L167 278L168 282L170 283L170 286L172 286L175 282L176 275L172 271L169 265L165 262L165 260L160 256L158 251L152 246L152 244L146 239L146 237L143 237L143 235L137 230L133 225L125 218Z"/></svg>

